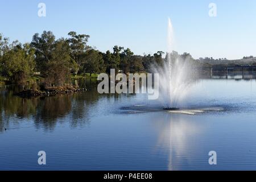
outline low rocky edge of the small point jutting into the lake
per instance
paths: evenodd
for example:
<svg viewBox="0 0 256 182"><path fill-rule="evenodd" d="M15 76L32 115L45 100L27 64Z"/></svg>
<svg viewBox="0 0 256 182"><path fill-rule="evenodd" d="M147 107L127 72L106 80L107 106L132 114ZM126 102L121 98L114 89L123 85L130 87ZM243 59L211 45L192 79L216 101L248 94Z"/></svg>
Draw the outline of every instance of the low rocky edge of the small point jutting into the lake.
<svg viewBox="0 0 256 182"><path fill-rule="evenodd" d="M76 86L67 86L67 87L51 87L46 88L45 90L32 90L26 89L21 92L16 93L16 96L20 97L39 97L39 96L55 96L57 94L70 94L76 92L85 92L85 88L78 88Z"/></svg>

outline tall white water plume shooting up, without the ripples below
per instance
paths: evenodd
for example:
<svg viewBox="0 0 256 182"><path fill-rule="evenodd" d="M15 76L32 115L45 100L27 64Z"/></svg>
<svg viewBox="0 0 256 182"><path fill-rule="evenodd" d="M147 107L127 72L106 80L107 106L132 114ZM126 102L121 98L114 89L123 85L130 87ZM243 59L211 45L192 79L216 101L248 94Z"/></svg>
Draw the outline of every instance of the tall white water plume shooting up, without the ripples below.
<svg viewBox="0 0 256 182"><path fill-rule="evenodd" d="M180 56L174 51L174 31L168 18L167 53L162 64L154 65L152 71L159 73L159 97L164 109L177 109L189 92L195 75L192 57Z"/></svg>

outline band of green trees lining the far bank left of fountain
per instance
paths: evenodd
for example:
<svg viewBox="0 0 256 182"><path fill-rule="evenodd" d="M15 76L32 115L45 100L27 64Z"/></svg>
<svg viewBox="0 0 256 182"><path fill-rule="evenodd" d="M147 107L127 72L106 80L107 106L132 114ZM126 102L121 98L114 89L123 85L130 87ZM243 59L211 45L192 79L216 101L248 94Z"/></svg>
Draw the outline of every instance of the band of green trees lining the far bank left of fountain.
<svg viewBox="0 0 256 182"><path fill-rule="evenodd" d="M30 43L22 44L10 43L0 34L1 80L19 85L40 81L41 88L49 88L67 85L71 78L110 73L110 69L116 73L150 72L151 65L162 65L164 61L162 51L141 56L129 48L114 46L112 51L101 52L88 45L89 35L71 31L67 36L56 39L51 31L43 31L32 36ZM189 53L181 56L193 60Z"/></svg>

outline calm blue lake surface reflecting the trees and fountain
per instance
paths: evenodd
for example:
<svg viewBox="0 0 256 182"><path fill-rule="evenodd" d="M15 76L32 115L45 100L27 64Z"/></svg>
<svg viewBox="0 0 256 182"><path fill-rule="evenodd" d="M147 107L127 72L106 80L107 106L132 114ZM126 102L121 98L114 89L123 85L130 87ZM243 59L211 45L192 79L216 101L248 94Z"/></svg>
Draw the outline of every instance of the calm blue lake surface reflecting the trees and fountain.
<svg viewBox="0 0 256 182"><path fill-rule="evenodd" d="M196 115L168 113L143 94L100 95L94 86L30 100L0 89L3 170L256 169L255 80L198 81L183 107L224 110ZM46 166L38 165L41 150ZM212 150L216 166L208 163Z"/></svg>

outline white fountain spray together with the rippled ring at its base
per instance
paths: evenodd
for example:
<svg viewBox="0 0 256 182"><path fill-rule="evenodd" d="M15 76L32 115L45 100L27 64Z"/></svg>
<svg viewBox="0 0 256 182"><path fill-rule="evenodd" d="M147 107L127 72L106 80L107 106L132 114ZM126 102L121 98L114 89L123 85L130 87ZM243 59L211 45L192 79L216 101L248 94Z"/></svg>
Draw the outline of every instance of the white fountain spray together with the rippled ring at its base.
<svg viewBox="0 0 256 182"><path fill-rule="evenodd" d="M154 64L152 73L159 73L159 105L135 105L122 107L127 113L141 113L166 110L172 114L200 114L208 111L223 111L219 106L191 106L189 97L192 97L192 88L200 80L196 71L197 63L191 56L178 55L174 51L174 31L171 19L168 19L168 50L163 63ZM195 93L194 93L195 94ZM197 92L197 94L199 94Z"/></svg>

